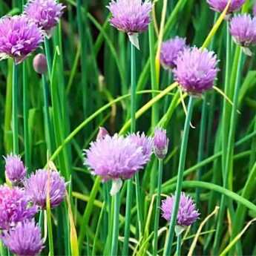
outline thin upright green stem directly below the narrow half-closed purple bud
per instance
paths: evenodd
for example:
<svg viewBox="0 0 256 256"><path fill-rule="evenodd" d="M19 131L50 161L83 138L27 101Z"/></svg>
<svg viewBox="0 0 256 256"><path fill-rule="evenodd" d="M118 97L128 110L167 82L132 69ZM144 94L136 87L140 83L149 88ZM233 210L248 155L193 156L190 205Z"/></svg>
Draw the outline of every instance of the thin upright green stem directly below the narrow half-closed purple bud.
<svg viewBox="0 0 256 256"><path fill-rule="evenodd" d="M156 213L154 216L154 248L153 256L157 256L157 232L159 228L159 218L160 218L160 203L161 203L161 186L163 177L163 160L158 161L158 183L157 183L157 203L156 203Z"/></svg>

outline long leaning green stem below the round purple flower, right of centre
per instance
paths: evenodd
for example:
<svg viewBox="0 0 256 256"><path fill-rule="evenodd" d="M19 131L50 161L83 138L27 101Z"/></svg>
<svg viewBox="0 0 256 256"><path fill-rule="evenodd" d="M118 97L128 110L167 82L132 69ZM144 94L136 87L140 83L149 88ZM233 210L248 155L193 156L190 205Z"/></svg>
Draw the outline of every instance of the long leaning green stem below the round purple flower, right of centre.
<svg viewBox="0 0 256 256"><path fill-rule="evenodd" d="M191 116L193 112L193 106L194 106L194 99L193 99L193 96L190 96L189 102L188 102L188 114L186 116L186 121L184 125L183 141L180 148L180 162L179 162L179 168L178 168L177 186L175 191L174 209L173 209L173 213L171 214L171 223L168 231L167 244L165 246L165 250L163 253L164 256L169 256L171 254L171 246L174 240L174 229L177 222L177 214L180 206L180 195L181 195L181 189L183 185L183 172L185 168L186 151L188 146L188 134L189 134Z"/></svg>

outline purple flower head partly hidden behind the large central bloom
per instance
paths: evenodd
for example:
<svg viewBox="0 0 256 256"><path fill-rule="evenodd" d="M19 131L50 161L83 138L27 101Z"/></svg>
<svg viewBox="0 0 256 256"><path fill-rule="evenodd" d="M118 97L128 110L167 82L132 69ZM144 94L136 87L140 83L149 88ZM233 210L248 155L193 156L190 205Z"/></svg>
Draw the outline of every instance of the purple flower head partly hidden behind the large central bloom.
<svg viewBox="0 0 256 256"><path fill-rule="evenodd" d="M137 134L129 134L128 140L135 143L137 147L142 147L142 154L145 156L147 162L151 158L151 154L153 153L153 140L151 137L145 136L144 132L140 134L138 131Z"/></svg>

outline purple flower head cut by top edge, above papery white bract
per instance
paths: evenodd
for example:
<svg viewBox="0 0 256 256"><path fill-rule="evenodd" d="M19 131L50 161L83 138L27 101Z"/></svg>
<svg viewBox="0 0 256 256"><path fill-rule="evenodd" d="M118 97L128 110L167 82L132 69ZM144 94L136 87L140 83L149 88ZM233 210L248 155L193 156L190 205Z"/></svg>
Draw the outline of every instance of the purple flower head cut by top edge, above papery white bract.
<svg viewBox="0 0 256 256"><path fill-rule="evenodd" d="M152 4L149 0L112 0L111 25L128 34L140 33L148 29Z"/></svg>

